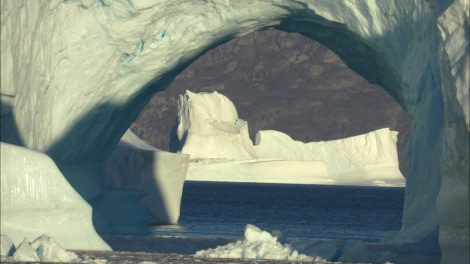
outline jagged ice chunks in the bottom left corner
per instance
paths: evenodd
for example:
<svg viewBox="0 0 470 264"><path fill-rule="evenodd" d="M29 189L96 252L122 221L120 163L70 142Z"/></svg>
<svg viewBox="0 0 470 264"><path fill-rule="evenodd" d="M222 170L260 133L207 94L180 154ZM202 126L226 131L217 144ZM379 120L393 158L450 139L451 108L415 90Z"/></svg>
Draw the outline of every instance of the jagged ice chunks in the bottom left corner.
<svg viewBox="0 0 470 264"><path fill-rule="evenodd" d="M33 242L26 238L15 248L11 239L1 235L3 257L13 257L15 261L44 261L44 262L72 262L78 260L78 256L65 250L49 236L42 235Z"/></svg>

